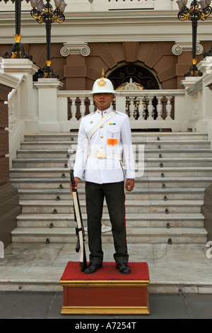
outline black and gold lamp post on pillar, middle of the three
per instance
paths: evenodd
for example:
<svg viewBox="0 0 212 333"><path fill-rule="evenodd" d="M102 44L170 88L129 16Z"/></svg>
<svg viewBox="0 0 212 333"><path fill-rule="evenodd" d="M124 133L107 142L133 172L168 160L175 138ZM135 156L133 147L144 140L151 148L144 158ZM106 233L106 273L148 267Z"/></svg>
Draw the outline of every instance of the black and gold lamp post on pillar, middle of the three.
<svg viewBox="0 0 212 333"><path fill-rule="evenodd" d="M47 0L47 3L44 4L42 0L30 0L31 6L33 9L31 10L31 16L35 18L37 23L44 22L46 25L46 38L47 38L47 66L44 69L43 74L40 74L40 77L56 77L58 75L53 73L53 69L51 67L51 28L52 23L63 23L65 20L64 9L66 4L63 0L54 0L54 4L56 9L53 10L52 5L50 4L50 0ZM37 7L37 8L36 8Z"/></svg>

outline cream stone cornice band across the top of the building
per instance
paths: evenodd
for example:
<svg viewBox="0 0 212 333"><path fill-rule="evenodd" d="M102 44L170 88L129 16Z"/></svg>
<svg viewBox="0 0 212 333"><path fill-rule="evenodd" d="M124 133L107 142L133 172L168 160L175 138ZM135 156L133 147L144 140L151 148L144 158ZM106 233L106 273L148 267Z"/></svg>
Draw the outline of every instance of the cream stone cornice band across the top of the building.
<svg viewBox="0 0 212 333"><path fill-rule="evenodd" d="M192 23L178 20L175 0L66 0L66 4L65 22L52 24L52 43L192 41ZM11 1L0 2L0 44L14 43L14 8ZM46 43L45 23L30 16L30 3L21 1L21 8L21 43ZM199 22L198 41L211 41L211 24L212 15Z"/></svg>

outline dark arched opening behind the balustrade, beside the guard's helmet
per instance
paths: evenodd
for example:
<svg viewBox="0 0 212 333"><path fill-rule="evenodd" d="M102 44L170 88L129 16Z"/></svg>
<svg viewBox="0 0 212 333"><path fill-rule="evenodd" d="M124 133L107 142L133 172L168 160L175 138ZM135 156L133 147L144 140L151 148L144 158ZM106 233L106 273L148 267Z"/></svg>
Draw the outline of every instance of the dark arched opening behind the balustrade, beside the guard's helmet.
<svg viewBox="0 0 212 333"><path fill-rule="evenodd" d="M107 79L112 81L114 89L129 82L130 79L137 84L141 84L143 89L160 89L155 75L148 68L140 64L124 64L114 69L107 76Z"/></svg>

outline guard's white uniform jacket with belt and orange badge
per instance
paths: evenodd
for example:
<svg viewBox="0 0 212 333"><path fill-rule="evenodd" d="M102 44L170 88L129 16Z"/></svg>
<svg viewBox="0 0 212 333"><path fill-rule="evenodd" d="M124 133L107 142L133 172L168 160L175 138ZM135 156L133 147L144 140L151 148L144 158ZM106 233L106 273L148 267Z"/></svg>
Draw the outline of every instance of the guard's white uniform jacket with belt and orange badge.
<svg viewBox="0 0 212 333"><path fill-rule="evenodd" d="M88 132L106 111L95 111L81 119L78 131L78 146L74 164L74 176L97 184L115 183L124 180L122 154L126 179L135 178L134 152L131 145L129 117L116 111L88 140Z"/></svg>

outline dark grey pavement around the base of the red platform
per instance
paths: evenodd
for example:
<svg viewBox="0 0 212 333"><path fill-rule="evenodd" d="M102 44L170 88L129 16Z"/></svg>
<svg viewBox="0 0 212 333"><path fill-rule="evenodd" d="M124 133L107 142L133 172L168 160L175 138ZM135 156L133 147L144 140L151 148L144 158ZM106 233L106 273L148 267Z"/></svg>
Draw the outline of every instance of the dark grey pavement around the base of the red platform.
<svg viewBox="0 0 212 333"><path fill-rule="evenodd" d="M150 294L150 315L61 315L62 293L0 292L0 319L71 319L101 323L112 320L136 322L144 319L212 319L212 295ZM71 327L70 327L71 328Z"/></svg>

